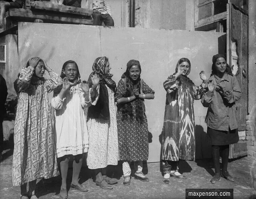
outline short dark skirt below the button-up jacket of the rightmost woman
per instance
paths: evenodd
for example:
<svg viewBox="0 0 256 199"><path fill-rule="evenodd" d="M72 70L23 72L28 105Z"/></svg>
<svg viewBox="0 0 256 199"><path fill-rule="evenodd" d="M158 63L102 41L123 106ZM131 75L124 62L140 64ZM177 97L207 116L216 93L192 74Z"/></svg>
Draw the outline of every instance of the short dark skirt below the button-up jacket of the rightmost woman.
<svg viewBox="0 0 256 199"><path fill-rule="evenodd" d="M207 127L207 138L211 145L229 145L239 141L238 129L229 131L219 131Z"/></svg>

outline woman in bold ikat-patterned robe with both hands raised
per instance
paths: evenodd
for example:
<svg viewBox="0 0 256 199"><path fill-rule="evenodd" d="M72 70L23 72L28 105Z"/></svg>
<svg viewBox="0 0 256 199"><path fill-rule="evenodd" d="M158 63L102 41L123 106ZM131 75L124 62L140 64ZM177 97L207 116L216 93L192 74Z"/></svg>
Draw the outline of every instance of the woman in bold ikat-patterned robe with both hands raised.
<svg viewBox="0 0 256 199"><path fill-rule="evenodd" d="M167 91L162 131L163 181L170 183L170 176L186 177L178 172L179 160L195 160L195 115L194 100L201 99L206 76L200 72L200 86L187 77L190 73L189 59L181 58L175 73L163 83Z"/></svg>

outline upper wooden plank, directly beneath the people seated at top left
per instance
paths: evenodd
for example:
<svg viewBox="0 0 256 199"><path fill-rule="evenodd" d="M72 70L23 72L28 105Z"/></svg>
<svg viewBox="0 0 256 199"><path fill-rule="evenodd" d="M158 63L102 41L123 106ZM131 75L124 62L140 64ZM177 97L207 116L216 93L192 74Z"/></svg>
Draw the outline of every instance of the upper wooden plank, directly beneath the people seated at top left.
<svg viewBox="0 0 256 199"><path fill-rule="evenodd" d="M89 16L93 14L93 10L66 6L66 5L57 5L50 3L48 1L33 1L31 2L31 10L39 9L39 10L47 10L47 11L55 11L55 12L63 12L63 13L72 13L77 15Z"/></svg>

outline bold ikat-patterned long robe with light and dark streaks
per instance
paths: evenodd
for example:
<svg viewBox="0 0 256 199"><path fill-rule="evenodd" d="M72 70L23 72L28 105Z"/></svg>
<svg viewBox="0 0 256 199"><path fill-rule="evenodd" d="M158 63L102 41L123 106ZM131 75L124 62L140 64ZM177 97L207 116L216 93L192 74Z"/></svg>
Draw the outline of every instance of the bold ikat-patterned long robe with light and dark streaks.
<svg viewBox="0 0 256 199"><path fill-rule="evenodd" d="M183 78L185 84L176 81L174 75L163 83L167 94L162 132L162 160L195 160L194 100L201 99L204 84L195 86L189 78L180 78Z"/></svg>

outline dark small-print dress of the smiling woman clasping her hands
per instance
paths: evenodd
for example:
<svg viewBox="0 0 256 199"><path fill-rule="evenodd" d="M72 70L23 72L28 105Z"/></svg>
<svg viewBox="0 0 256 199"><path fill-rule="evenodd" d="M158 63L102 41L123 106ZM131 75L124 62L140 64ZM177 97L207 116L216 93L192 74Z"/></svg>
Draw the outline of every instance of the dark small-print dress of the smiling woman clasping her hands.
<svg viewBox="0 0 256 199"><path fill-rule="evenodd" d="M155 93L143 80L141 86L144 94ZM135 86L133 87L133 92ZM118 82L115 100L125 97L126 85L121 79ZM136 114L135 101L130 102L133 115ZM144 104L144 102L143 102ZM148 120L144 110L143 123L140 124L136 118L122 120L122 111L117 112L118 123L118 141L120 160L143 161L148 160L149 142L148 142Z"/></svg>

